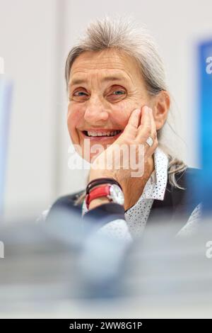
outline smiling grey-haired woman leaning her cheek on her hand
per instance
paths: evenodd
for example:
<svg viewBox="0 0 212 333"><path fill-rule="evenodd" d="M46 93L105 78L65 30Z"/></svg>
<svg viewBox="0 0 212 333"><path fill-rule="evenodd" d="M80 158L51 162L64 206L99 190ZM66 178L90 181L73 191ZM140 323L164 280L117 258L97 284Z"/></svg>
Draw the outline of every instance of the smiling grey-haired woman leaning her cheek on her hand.
<svg viewBox="0 0 212 333"><path fill-rule="evenodd" d="M131 237L142 235L155 218L180 217L176 234L195 225L200 205L188 194L198 170L160 144L170 94L146 29L122 19L90 23L67 57L66 85L69 135L91 162L90 174L85 191L59 198L51 210L78 205L83 215L104 219L104 227L116 232L123 234L125 223Z"/></svg>

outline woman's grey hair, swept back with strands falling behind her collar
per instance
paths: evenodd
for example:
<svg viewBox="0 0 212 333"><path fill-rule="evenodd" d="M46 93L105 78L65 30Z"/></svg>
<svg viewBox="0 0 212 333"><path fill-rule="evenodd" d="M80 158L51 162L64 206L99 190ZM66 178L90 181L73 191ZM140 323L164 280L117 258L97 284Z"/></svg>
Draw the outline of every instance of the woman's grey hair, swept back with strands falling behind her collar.
<svg viewBox="0 0 212 333"><path fill-rule="evenodd" d="M71 66L84 51L102 51L115 49L134 57L139 64L146 89L150 96L156 96L160 91L168 91L165 67L160 57L158 46L147 28L140 23L134 23L131 18L98 19L90 22L86 31L76 45L71 49L66 59L66 87L69 87ZM172 186L182 188L177 184L176 174L187 169L187 165L173 156L169 147L162 144L163 129L158 130L158 145L167 154L168 179ZM175 132L175 134L177 134Z"/></svg>

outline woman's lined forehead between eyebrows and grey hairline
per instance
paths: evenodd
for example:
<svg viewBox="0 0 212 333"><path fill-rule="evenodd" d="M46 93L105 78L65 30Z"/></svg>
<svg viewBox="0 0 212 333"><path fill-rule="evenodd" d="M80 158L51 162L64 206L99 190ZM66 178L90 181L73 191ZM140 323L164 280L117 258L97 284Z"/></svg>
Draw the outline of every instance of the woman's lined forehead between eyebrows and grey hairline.
<svg viewBox="0 0 212 333"><path fill-rule="evenodd" d="M85 51L74 60L69 82L83 79L86 74L116 74L126 80L141 79L139 64L134 57L118 50Z"/></svg>

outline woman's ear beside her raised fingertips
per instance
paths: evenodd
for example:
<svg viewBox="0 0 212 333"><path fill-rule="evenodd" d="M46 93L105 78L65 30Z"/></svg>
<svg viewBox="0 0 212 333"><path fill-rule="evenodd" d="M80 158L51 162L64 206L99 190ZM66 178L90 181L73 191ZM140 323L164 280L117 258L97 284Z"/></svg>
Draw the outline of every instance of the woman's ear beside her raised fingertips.
<svg viewBox="0 0 212 333"><path fill-rule="evenodd" d="M153 116L155 119L156 130L163 128L165 120L167 120L169 109L170 95L165 90L160 91L160 93L155 96L155 101L153 102Z"/></svg>

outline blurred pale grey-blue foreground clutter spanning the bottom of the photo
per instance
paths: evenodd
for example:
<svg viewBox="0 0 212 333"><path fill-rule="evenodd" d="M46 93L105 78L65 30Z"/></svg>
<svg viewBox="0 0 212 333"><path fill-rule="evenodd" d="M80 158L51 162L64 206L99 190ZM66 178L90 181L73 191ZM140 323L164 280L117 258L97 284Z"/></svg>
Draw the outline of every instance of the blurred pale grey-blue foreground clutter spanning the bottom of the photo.
<svg viewBox="0 0 212 333"><path fill-rule="evenodd" d="M1 227L1 317L212 317L210 220L193 237L158 221L129 246L55 213Z"/></svg>

